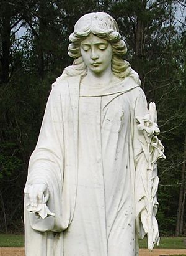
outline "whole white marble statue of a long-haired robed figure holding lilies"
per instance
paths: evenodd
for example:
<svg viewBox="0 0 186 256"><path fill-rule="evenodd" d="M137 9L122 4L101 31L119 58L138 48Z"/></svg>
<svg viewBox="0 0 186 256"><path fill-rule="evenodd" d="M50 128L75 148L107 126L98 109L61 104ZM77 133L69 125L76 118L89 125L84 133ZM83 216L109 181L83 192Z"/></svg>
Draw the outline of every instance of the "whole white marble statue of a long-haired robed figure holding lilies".
<svg viewBox="0 0 186 256"><path fill-rule="evenodd" d="M30 158L25 255L135 256L144 235L159 243L156 106L110 15L82 16L69 41Z"/></svg>

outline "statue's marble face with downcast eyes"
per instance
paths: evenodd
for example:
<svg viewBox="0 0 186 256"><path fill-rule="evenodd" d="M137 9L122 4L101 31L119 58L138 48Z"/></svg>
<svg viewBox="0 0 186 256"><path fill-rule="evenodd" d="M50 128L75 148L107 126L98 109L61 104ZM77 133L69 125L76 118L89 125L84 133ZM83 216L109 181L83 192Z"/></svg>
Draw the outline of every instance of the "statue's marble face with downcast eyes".
<svg viewBox="0 0 186 256"><path fill-rule="evenodd" d="M107 40L90 34L81 42L80 50L88 72L111 72L112 46Z"/></svg>

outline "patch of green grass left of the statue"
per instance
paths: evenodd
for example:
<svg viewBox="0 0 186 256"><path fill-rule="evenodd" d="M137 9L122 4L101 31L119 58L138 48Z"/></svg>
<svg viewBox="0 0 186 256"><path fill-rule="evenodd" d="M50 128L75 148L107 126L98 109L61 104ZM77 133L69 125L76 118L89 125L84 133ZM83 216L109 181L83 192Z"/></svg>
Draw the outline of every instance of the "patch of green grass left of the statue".
<svg viewBox="0 0 186 256"><path fill-rule="evenodd" d="M24 235L0 234L0 247L24 247Z"/></svg>

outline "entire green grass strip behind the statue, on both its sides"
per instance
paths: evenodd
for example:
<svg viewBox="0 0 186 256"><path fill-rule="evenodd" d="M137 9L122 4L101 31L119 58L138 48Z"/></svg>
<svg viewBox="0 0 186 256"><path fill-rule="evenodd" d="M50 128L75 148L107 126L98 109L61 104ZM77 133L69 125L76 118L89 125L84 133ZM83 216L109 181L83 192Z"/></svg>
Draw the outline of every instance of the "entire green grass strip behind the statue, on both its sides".
<svg viewBox="0 0 186 256"><path fill-rule="evenodd" d="M146 248L146 245L146 238L139 241L140 248ZM0 247L24 247L24 235L0 234ZM186 249L186 237L162 237L159 243L159 247L155 248Z"/></svg>

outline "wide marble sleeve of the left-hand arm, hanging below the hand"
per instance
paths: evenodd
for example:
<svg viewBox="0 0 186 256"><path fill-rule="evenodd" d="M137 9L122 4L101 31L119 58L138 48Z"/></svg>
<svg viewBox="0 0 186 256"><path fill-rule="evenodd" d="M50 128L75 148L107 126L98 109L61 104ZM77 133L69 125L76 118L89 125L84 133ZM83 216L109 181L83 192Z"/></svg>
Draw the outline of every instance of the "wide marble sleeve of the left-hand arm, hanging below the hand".
<svg viewBox="0 0 186 256"><path fill-rule="evenodd" d="M61 230L61 194L64 172L64 135L63 115L60 93L53 89L48 98L38 143L29 162L26 187L32 184L46 184L49 190L47 206L55 212L54 226L43 227L45 220L40 219L33 228L38 230ZM30 213L32 214L32 213ZM32 214L33 215L33 214ZM54 217L50 217L54 219ZM41 226L40 226L41 225Z"/></svg>

